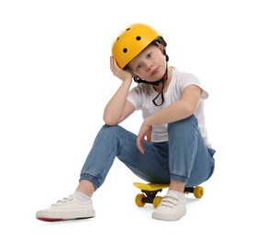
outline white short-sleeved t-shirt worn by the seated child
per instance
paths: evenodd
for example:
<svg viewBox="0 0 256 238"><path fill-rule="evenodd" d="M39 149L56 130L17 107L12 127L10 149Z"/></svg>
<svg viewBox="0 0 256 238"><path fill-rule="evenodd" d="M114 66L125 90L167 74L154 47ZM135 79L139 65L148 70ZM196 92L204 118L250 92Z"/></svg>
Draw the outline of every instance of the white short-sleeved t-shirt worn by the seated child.
<svg viewBox="0 0 256 238"><path fill-rule="evenodd" d="M195 75L191 73L181 72L179 70L173 70L172 81L170 82L168 89L163 93L164 103L161 106L156 106L152 103L152 100L158 95L153 89L151 84L141 83L132 88L128 93L128 101L132 103L135 110L142 111L142 117L145 119L151 114L155 114L168 105L180 100L184 88L188 85L195 84L202 89L201 100L195 111L195 117L198 121L198 126L205 140L205 144L211 147L206 131L205 114L204 114L204 100L208 97L208 93L201 87L199 80ZM157 104L161 103L161 95L157 99ZM168 141L167 124L157 124L152 127L151 134L152 142Z"/></svg>

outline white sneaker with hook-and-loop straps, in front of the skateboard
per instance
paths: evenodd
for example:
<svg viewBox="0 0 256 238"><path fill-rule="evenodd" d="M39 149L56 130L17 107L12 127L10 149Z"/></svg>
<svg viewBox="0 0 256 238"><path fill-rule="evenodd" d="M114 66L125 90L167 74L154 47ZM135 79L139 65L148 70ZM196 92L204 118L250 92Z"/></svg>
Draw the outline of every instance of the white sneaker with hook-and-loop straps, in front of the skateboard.
<svg viewBox="0 0 256 238"><path fill-rule="evenodd" d="M179 198L175 193L165 195L159 206L152 213L153 219L163 221L178 221L186 212L185 200Z"/></svg>

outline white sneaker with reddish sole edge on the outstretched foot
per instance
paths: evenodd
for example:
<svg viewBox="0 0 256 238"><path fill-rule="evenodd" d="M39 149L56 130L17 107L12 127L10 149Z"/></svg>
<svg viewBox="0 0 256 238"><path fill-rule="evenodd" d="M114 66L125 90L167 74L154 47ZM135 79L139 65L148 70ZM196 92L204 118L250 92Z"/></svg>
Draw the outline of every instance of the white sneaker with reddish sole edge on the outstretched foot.
<svg viewBox="0 0 256 238"><path fill-rule="evenodd" d="M57 222L95 217L93 200L77 200L73 196L58 200L49 209L38 211L36 218L44 222Z"/></svg>

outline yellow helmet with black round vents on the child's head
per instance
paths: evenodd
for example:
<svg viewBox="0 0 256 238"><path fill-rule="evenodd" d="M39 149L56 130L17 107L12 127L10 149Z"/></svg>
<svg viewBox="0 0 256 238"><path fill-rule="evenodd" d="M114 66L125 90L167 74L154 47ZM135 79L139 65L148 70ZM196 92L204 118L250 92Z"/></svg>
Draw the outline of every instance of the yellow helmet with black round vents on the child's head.
<svg viewBox="0 0 256 238"><path fill-rule="evenodd" d="M145 24L133 24L123 30L113 42L112 56L117 64L124 69L129 61L134 59L154 40L159 39L166 46L161 35L152 27Z"/></svg>

